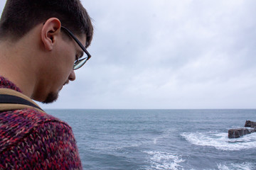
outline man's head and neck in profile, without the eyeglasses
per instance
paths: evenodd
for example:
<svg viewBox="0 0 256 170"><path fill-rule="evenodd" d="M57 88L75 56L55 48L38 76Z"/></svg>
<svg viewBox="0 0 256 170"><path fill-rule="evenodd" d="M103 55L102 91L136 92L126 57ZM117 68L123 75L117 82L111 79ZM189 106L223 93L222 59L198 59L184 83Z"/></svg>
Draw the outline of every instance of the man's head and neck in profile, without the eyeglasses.
<svg viewBox="0 0 256 170"><path fill-rule="evenodd" d="M73 65L84 49L63 27L82 46L90 45L92 23L79 0L6 1L0 20L0 42L7 41L14 48L6 50L9 58L2 57L6 64L0 70L36 101L55 101L62 86L75 79Z"/></svg>

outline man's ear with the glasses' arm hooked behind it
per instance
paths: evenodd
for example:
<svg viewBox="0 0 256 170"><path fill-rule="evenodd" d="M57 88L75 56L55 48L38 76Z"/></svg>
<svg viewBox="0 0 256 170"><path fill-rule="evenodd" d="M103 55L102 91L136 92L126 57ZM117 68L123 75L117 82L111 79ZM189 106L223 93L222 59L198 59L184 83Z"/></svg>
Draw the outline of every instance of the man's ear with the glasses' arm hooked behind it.
<svg viewBox="0 0 256 170"><path fill-rule="evenodd" d="M49 18L46 23L43 24L41 30L41 38L46 50L53 50L53 46L60 35L61 23L58 18Z"/></svg>

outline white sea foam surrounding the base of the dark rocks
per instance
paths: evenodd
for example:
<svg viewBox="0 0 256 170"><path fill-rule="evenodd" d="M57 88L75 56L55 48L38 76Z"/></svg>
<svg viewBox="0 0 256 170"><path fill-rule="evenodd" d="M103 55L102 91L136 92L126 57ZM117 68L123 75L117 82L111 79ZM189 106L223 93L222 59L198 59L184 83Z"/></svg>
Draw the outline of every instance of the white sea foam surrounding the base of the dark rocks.
<svg viewBox="0 0 256 170"><path fill-rule="evenodd" d="M183 132L181 136L193 145L215 147L220 150L242 150L256 148L256 133L236 139L229 139L228 133Z"/></svg>

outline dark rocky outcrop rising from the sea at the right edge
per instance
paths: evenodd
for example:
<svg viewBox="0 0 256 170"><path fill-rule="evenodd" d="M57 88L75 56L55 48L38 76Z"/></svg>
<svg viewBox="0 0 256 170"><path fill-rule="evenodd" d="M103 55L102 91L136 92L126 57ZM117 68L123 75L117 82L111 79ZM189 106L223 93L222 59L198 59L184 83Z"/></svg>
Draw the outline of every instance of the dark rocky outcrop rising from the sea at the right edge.
<svg viewBox="0 0 256 170"><path fill-rule="evenodd" d="M238 138L243 135L247 135L252 132L256 132L256 123L255 122L246 120L245 127L250 127L253 129L247 129L247 128L230 129L230 130L228 130L228 138Z"/></svg>

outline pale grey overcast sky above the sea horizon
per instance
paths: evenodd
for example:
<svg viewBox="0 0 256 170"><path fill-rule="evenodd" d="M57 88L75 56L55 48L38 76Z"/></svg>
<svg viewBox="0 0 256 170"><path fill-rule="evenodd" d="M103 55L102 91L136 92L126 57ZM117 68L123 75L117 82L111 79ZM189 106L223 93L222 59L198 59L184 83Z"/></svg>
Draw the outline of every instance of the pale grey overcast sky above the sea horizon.
<svg viewBox="0 0 256 170"><path fill-rule="evenodd" d="M43 108L256 108L255 0L82 4L92 58Z"/></svg>

